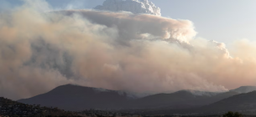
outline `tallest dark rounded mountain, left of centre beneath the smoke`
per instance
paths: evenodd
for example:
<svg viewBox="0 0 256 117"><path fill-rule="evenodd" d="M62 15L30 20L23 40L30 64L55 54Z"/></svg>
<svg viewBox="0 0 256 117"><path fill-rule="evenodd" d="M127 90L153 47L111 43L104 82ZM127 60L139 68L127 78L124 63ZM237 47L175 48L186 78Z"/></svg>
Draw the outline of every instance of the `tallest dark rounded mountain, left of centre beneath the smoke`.
<svg viewBox="0 0 256 117"><path fill-rule="evenodd" d="M129 101L127 94L107 89L95 89L72 84L57 87L46 94L20 99L24 104L41 104L65 110L118 109Z"/></svg>

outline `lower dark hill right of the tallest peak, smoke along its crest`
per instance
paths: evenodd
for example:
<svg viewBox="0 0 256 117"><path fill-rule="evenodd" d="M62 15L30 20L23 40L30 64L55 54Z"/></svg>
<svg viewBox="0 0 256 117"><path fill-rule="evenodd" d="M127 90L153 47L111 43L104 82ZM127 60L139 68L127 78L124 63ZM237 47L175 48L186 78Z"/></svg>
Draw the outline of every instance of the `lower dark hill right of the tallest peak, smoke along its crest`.
<svg viewBox="0 0 256 117"><path fill-rule="evenodd" d="M159 109L189 109L212 104L221 99L225 99L236 92L194 94L190 90L181 90L172 94L154 94L135 100L134 106L140 108L159 108Z"/></svg>

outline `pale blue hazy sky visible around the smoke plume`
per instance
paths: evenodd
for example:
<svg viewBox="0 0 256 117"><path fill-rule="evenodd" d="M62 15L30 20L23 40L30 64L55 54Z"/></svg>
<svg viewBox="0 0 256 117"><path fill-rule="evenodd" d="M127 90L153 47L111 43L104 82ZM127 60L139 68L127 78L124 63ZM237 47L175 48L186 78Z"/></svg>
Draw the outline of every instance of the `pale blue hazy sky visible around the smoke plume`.
<svg viewBox="0 0 256 117"><path fill-rule="evenodd" d="M94 8L104 0L46 0L53 8ZM231 43L248 38L256 40L255 0L151 0L162 16L189 19L195 23L197 37ZM17 6L19 0L0 0L0 10ZM8 5L7 5L8 3Z"/></svg>

